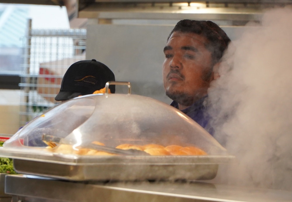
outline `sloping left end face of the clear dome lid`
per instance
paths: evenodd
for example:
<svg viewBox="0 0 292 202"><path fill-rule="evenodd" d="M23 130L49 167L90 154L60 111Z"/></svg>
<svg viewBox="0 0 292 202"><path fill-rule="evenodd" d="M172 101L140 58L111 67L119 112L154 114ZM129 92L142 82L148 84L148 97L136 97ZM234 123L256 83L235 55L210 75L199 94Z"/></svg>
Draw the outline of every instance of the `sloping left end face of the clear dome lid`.
<svg viewBox="0 0 292 202"><path fill-rule="evenodd" d="M41 138L43 134L64 138L84 123L92 115L94 109L95 99L73 99L64 102L24 126L5 143L5 147L46 147L48 145Z"/></svg>

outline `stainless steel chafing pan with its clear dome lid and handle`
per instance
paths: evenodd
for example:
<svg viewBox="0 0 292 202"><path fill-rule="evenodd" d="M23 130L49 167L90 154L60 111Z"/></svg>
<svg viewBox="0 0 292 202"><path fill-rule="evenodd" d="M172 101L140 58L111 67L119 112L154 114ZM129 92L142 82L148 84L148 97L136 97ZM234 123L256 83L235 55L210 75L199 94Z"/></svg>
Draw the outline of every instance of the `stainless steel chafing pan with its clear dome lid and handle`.
<svg viewBox="0 0 292 202"><path fill-rule="evenodd" d="M201 126L178 109L150 97L108 93L64 102L24 126L0 148L18 173L66 180L207 180L233 156ZM118 85L120 82L112 84ZM78 155L46 149L43 134L79 148L86 142L177 144L204 150L204 156ZM131 141L130 141L131 140Z"/></svg>

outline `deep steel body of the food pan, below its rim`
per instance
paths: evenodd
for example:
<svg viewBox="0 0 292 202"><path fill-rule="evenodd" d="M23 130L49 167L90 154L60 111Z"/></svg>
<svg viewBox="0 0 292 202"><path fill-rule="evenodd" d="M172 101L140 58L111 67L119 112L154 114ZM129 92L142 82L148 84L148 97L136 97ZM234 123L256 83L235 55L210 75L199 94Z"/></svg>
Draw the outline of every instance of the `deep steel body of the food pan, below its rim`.
<svg viewBox="0 0 292 202"><path fill-rule="evenodd" d="M72 181L88 180L210 180L217 175L218 163L193 164L100 164L64 165L39 161L13 161L16 172Z"/></svg>

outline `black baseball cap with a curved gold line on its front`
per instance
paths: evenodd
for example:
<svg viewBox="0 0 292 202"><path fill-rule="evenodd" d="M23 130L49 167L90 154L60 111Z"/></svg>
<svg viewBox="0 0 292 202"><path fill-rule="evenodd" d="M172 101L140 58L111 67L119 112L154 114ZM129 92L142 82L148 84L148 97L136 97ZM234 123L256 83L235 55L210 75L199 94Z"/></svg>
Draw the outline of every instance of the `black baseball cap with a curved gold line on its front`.
<svg viewBox="0 0 292 202"><path fill-rule="evenodd" d="M69 100L79 95L92 94L105 87L108 81L115 81L114 73L103 63L93 60L81 60L72 64L65 73L60 92L55 100ZM111 93L115 86L110 85Z"/></svg>

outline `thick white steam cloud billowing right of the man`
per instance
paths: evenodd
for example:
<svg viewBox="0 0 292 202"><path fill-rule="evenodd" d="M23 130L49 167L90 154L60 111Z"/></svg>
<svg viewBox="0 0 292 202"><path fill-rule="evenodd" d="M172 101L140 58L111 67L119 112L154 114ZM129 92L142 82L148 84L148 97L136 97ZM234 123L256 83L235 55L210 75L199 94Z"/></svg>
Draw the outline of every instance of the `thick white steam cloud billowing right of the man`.
<svg viewBox="0 0 292 202"><path fill-rule="evenodd" d="M278 8L248 24L211 83L214 137L236 156L215 182L292 190L291 22L291 8Z"/></svg>

